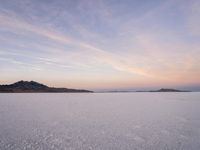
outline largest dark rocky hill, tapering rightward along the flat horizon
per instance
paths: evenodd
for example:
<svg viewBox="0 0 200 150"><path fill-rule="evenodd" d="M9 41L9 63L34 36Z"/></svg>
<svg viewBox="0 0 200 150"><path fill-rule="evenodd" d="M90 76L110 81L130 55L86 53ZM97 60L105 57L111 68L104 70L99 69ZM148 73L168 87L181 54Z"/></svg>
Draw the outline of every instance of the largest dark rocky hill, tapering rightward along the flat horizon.
<svg viewBox="0 0 200 150"><path fill-rule="evenodd" d="M9 85L0 85L0 93L79 93L93 92L82 89L48 87L35 81L18 81Z"/></svg>

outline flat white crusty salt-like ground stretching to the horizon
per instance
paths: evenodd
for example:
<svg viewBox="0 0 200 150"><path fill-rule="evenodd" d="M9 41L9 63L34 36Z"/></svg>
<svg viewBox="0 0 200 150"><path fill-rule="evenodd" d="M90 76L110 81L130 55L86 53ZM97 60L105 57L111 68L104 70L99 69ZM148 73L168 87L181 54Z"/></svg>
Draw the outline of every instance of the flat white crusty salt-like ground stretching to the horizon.
<svg viewBox="0 0 200 150"><path fill-rule="evenodd" d="M0 94L1 150L199 150L200 93Z"/></svg>

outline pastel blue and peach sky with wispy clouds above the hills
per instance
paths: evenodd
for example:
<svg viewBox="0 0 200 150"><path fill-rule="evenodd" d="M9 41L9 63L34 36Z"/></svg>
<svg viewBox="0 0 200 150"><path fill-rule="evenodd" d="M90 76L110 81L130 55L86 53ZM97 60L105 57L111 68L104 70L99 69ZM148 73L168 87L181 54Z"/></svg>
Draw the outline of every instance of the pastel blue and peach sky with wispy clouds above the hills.
<svg viewBox="0 0 200 150"><path fill-rule="evenodd" d="M199 0L0 0L0 84L200 90Z"/></svg>

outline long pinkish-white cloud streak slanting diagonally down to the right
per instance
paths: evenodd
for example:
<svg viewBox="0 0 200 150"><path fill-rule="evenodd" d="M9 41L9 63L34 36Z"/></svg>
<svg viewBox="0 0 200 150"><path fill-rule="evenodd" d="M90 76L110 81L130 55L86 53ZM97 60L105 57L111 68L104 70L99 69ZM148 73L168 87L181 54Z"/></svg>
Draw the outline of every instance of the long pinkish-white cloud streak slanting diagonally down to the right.
<svg viewBox="0 0 200 150"><path fill-rule="evenodd" d="M28 32L32 32L33 34L36 33L41 36L48 37L57 42L62 42L64 44L76 45L82 49L82 51L80 51L80 53L84 54L85 51L89 51L88 54L90 57L96 58L96 60L98 62L102 62L102 63L106 63L108 65L111 65L111 67L113 67L116 70L127 71L130 73L146 75L146 76L148 75L147 73L145 73L145 71L143 71L137 67L130 66L130 65L126 64L125 62L123 62L122 60L120 60L119 58L116 58L112 53L109 53L108 51L94 47L90 44L66 37L62 34L58 34L55 31L50 31L50 30L47 30L44 28L40 28L40 27L31 25L21 19L16 19L11 16L4 16L4 15L0 16L0 20L1 20L1 22L3 22L0 25L2 27L5 27L6 29L11 30L12 32L19 32L20 30L25 31L25 32L28 31ZM13 20L14 20L14 22L13 22ZM66 52L64 50L63 50L63 54L66 54ZM50 62L50 61L47 61L47 62ZM55 63L55 62L51 61L51 63ZM60 66L64 66L64 65L60 64Z"/></svg>

